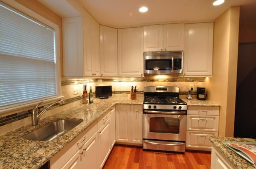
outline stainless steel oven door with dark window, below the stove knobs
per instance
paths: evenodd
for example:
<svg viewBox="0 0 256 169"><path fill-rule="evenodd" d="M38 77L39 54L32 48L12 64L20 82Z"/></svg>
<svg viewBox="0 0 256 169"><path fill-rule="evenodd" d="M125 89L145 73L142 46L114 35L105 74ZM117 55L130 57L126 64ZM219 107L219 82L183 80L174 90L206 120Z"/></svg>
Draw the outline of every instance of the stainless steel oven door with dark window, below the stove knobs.
<svg viewBox="0 0 256 169"><path fill-rule="evenodd" d="M143 114L143 138L186 141L187 115Z"/></svg>

